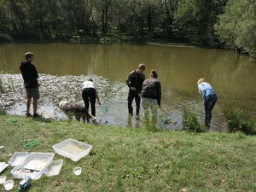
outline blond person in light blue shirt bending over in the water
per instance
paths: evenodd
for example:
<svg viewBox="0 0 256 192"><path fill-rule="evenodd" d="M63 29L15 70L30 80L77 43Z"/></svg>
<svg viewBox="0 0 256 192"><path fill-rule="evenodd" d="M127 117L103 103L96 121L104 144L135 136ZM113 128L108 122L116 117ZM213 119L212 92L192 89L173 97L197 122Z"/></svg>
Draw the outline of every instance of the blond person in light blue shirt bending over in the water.
<svg viewBox="0 0 256 192"><path fill-rule="evenodd" d="M205 126L210 127L212 118L212 109L217 102L217 94L214 92L211 84L204 81L201 78L197 81L199 93L202 94L204 99L204 111L205 111Z"/></svg>

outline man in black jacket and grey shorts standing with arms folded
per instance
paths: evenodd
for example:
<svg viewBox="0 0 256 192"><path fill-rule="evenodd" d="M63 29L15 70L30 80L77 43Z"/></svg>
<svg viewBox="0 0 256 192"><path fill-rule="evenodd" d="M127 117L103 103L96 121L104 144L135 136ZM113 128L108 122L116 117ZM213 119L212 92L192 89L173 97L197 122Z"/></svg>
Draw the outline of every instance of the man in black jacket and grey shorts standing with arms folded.
<svg viewBox="0 0 256 192"><path fill-rule="evenodd" d="M25 54L26 61L20 63L20 72L22 74L24 85L26 88L28 100L27 100L27 113L26 116L32 116L29 112L31 99L33 98L33 109L34 114L33 117L40 118L41 116L37 113L37 103L38 99L40 99L39 86L38 83L38 72L36 70L35 65L31 62L34 60L34 54L32 52L27 52Z"/></svg>

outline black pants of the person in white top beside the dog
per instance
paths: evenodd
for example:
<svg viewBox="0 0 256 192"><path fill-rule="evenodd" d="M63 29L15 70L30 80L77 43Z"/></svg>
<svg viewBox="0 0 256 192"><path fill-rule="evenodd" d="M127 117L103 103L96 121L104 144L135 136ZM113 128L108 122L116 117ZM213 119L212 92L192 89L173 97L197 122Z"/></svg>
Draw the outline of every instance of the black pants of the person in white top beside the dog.
<svg viewBox="0 0 256 192"><path fill-rule="evenodd" d="M84 105L87 111L89 111L89 100L91 103L92 115L96 115L95 102L96 102L96 92L95 88L84 88L82 92L82 97L84 100Z"/></svg>

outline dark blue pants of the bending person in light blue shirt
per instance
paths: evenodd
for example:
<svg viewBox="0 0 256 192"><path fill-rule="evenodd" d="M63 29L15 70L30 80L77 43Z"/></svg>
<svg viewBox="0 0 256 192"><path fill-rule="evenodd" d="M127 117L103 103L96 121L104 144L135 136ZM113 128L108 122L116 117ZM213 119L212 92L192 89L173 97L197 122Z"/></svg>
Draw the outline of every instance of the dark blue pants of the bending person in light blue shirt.
<svg viewBox="0 0 256 192"><path fill-rule="evenodd" d="M217 102L217 95L216 94L210 94L207 97L205 97L204 100L204 111L205 111L205 125L209 126L211 123L212 118L212 109L214 108L216 102Z"/></svg>

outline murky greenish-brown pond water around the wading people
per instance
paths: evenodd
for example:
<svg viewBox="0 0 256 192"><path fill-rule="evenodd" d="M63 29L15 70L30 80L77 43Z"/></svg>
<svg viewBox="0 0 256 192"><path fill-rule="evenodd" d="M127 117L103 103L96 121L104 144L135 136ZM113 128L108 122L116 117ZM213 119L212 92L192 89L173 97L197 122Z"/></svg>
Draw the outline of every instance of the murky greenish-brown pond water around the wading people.
<svg viewBox="0 0 256 192"><path fill-rule="evenodd" d="M0 71L19 74L24 52L35 54L34 63L40 74L102 76L109 82L118 82L119 86L120 83L123 84L122 92L127 92L124 82L129 72L139 63L145 63L147 77L152 68L159 74L159 81L163 86L163 114L177 122L175 125L168 125L167 128L170 129L180 129L184 107L196 106L200 122L204 119L202 98L196 84L200 77L211 83L218 94L211 131L225 129L221 108L227 102L256 113L256 60L248 56L237 56L232 52L216 49L161 44L2 44ZM68 89L70 92L73 90L72 87ZM100 90L107 98L104 100L105 107L97 107L97 115L102 122L136 125L138 122L134 118L128 118L125 93L113 102L112 96L108 98L109 89L106 90L108 91L105 92L104 88ZM19 106L15 106L15 103L10 106L12 113L19 115L24 111L25 102ZM52 110L46 104L42 109L44 113ZM159 114L161 117L161 113Z"/></svg>

